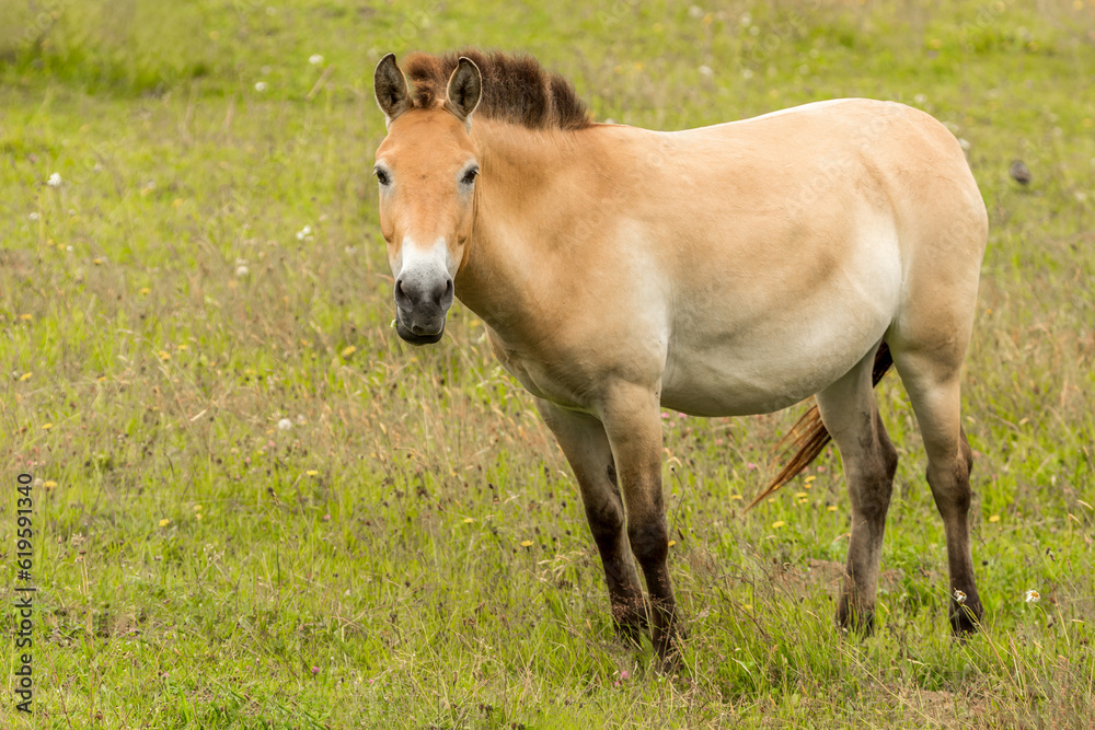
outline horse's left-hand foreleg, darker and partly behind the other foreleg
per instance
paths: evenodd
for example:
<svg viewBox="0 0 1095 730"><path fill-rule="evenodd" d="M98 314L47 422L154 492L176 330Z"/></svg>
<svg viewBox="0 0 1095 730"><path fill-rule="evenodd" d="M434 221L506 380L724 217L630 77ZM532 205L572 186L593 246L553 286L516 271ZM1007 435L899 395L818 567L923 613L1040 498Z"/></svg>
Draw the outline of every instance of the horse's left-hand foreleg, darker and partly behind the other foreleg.
<svg viewBox="0 0 1095 730"><path fill-rule="evenodd" d="M578 480L589 531L601 554L616 629L625 639L639 644L646 629L646 602L627 547L623 501L604 427L592 416L557 408L540 398L537 407Z"/></svg>

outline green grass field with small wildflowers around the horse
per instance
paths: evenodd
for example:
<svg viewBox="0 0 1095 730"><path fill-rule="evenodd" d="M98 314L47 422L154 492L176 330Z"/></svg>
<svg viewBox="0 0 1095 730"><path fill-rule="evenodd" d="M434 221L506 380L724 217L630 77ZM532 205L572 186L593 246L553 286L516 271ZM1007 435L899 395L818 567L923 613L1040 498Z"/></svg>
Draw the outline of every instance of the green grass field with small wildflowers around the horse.
<svg viewBox="0 0 1095 730"><path fill-rule="evenodd" d="M28 473L38 588L35 712L4 611L0 727L1095 727L1095 3L597 5L0 5L0 576L10 605ZM573 476L482 324L389 328L372 69L464 45L531 51L598 119L860 95L968 142L986 630L948 636L890 375L874 638L832 627L835 452L742 513L799 406L667 414L684 667L615 640Z"/></svg>

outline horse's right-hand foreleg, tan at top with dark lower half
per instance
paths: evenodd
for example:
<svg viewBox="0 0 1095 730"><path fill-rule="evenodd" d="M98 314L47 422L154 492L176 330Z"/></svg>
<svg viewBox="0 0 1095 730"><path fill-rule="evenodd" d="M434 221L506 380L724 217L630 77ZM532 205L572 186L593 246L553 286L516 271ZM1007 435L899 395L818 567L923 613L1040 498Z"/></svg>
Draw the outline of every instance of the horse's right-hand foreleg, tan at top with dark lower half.
<svg viewBox="0 0 1095 730"><path fill-rule="evenodd" d="M627 513L631 551L646 576L654 646L662 660L677 658L677 600L669 580L669 531L661 499L661 419L658 393L618 386L603 406Z"/></svg>

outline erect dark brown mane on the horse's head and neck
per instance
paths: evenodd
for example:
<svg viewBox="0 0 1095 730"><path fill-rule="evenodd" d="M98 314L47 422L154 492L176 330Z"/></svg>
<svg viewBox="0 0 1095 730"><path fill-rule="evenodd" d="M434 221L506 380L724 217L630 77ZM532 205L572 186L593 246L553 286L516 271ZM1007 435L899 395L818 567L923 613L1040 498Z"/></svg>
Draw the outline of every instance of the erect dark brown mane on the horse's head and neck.
<svg viewBox="0 0 1095 730"><path fill-rule="evenodd" d="M581 129L592 124L570 82L540 66L531 56L474 49L433 56L413 54L404 71L414 84L414 105L430 107L445 99L449 77L460 57L470 58L483 74L483 96L475 114L530 129Z"/></svg>

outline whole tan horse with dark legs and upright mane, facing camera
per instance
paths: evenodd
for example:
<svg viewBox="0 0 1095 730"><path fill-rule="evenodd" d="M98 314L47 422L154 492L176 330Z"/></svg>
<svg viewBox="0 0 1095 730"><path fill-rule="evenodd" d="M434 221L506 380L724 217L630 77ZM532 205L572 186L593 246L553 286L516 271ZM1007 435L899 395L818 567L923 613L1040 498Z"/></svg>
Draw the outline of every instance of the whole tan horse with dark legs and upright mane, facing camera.
<svg viewBox="0 0 1095 730"><path fill-rule="evenodd" d="M649 618L659 654L676 653L661 409L737 416L811 395L769 491L831 434L852 508L837 621L869 630L897 464L873 386L890 364L943 517L950 624L976 629L959 376L988 219L943 125L849 99L649 131L595 124L531 58L405 66L413 89L394 55L376 71L396 329L436 343L453 296L486 324L574 468L625 636Z"/></svg>

